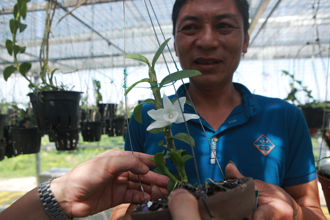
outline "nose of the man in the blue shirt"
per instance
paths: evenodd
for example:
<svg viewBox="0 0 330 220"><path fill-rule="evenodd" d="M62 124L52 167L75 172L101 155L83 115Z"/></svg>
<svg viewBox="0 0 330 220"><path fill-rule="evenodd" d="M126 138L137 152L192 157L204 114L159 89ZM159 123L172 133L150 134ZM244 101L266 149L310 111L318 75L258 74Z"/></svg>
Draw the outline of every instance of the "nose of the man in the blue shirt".
<svg viewBox="0 0 330 220"><path fill-rule="evenodd" d="M199 39L196 41L196 46L204 50L217 48L219 46L219 41L216 31L212 27L204 27L200 32Z"/></svg>

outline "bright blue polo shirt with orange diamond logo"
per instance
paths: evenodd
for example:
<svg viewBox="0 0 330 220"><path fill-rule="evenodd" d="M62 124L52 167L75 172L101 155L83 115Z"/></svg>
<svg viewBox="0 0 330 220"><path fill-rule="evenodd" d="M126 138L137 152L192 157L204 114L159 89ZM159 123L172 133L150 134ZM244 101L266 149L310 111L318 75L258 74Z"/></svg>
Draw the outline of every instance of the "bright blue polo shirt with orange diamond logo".
<svg viewBox="0 0 330 220"><path fill-rule="evenodd" d="M243 104L230 113L217 131L214 131L206 120L200 118L210 143L199 119L187 121L190 135L195 141L194 153L201 183L204 184L207 178L215 181L223 179L210 144L216 152L223 173L228 161L231 160L244 176L281 187L315 179L316 168L311 137L301 110L281 99L253 95L242 84L234 83L234 86L241 93ZM189 83L186 87L189 87ZM177 93L179 97L185 95L183 85ZM176 96L169 96L170 100L173 98ZM134 151L155 154L165 149L157 145L161 140L166 143L163 134L151 134L146 130L152 121L147 114L151 109L155 107L143 105L142 124L133 116L129 121ZM194 113L194 110L185 104L184 112ZM173 135L187 133L184 123L173 124L171 129ZM192 155L188 144L175 140L175 146L177 149L187 150ZM131 150L128 135L125 150ZM172 174L177 174L170 159L167 160L166 166ZM193 159L186 162L185 169L188 181L192 184L197 183Z"/></svg>

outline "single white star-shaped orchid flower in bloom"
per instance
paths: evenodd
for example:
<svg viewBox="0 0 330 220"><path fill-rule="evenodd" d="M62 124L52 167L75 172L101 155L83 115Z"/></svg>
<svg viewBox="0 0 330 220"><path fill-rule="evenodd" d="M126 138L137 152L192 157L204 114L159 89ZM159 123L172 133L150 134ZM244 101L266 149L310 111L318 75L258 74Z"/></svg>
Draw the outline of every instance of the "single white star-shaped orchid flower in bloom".
<svg viewBox="0 0 330 220"><path fill-rule="evenodd" d="M169 100L169 98L164 94L163 95L163 106L164 108L158 109L158 110L149 110L148 115L156 120L155 122L151 123L149 127L147 128L147 131L150 131L151 129L159 129L164 128L171 123L182 123L184 122L183 115L180 110L179 102L184 108L184 103L186 102L185 97L179 98L174 105L172 105L172 102ZM182 109L183 110L183 109ZM186 120L190 119L197 119L200 118L200 116L196 114L187 114L183 113Z"/></svg>

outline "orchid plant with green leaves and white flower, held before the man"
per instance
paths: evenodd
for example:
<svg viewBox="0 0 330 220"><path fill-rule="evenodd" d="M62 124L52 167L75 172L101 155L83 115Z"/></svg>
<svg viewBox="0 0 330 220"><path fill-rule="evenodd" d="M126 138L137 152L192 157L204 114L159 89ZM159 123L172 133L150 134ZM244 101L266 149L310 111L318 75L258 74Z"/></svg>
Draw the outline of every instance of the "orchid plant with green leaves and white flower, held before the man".
<svg viewBox="0 0 330 220"><path fill-rule="evenodd" d="M189 136L186 133L178 133L173 135L171 131L171 127L173 123L184 122L184 118L186 120L190 120L190 119L197 119L199 118L199 116L196 114L183 113L184 104L186 103L191 105L191 103L188 100L186 100L185 97L179 99L175 98L170 100L164 94L163 100L161 101L160 88L162 88L164 85L172 83L172 80L176 81L188 77L201 75L201 72L195 70L177 71L175 73L170 74L171 76L168 75L164 77L161 80L161 82L158 84L154 67L161 52L164 50L164 48L166 47L167 43L170 40L171 38L167 39L161 44L160 48L155 53L151 64L146 57L139 54L128 54L125 56L125 58L131 58L141 62L145 62L149 67L149 78L142 79L134 83L130 87L128 87L125 92L125 96L132 88L134 88L137 84L141 82L148 82L151 86L154 99L146 99L145 101L137 105L134 109L133 115L139 123L142 123L142 106L144 104L152 104L156 107L156 110L152 109L148 111L148 115L154 121L152 121L151 124L148 126L147 131L152 134L158 134L161 132L163 133L164 138L166 140L166 144L164 144L163 140L161 140L158 142L158 145L166 148L167 152L164 155L165 150L163 150L162 152L156 153L154 155L154 158L148 160L153 161L156 164L157 168L154 170L154 172L165 174L170 178L168 184L168 190L171 192L172 190L174 190L174 188L177 188L180 185L180 183L188 182L184 165L187 160L192 158L191 155L188 155L188 152L186 150L175 148L174 139L183 141L188 144L190 144L190 140L191 140L192 142L191 144L192 146L194 146L194 141L192 137L190 137L189 140ZM180 106L182 107L182 110L180 109ZM169 169L165 166L164 160L168 158L171 158L172 162L174 163L178 171L178 174L172 174L169 171Z"/></svg>

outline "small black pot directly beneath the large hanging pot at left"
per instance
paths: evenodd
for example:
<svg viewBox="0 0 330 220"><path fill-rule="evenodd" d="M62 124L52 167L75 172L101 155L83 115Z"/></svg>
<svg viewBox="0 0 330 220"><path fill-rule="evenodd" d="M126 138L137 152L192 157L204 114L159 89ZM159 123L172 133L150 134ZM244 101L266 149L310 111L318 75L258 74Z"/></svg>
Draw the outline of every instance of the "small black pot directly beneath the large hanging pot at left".
<svg viewBox="0 0 330 220"><path fill-rule="evenodd" d="M78 147L79 129L56 129L50 131L49 134L49 137L52 136L57 150L75 150Z"/></svg>

